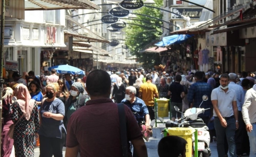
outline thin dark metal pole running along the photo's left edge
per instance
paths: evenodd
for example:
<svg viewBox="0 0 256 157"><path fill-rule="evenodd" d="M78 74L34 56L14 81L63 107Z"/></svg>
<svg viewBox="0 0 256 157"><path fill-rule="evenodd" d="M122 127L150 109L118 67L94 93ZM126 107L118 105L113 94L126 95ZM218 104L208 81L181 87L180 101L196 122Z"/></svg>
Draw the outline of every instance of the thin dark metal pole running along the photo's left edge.
<svg viewBox="0 0 256 157"><path fill-rule="evenodd" d="M2 100L3 100L3 58L4 58L4 29L5 29L5 0L2 0L2 14L1 14L1 39L0 39L0 119L2 121ZM2 132L2 122L0 122L0 132ZM0 147L1 147L1 142L0 142ZM0 154L1 154L1 149L0 149Z"/></svg>

